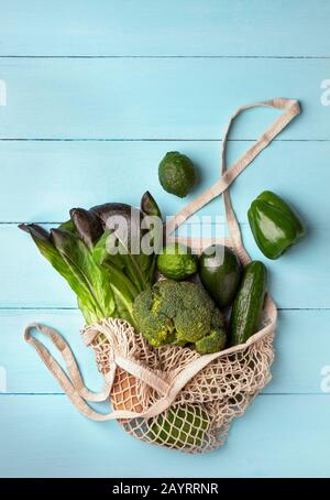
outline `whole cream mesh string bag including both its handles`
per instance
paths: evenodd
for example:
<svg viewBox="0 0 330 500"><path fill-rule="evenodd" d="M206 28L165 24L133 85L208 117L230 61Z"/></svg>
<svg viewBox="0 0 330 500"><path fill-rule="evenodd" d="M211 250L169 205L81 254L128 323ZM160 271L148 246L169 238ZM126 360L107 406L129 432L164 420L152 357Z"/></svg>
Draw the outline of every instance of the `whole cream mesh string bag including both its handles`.
<svg viewBox="0 0 330 500"><path fill-rule="evenodd" d="M227 169L226 144L231 123L242 111L256 106L270 106L284 112L243 156ZM226 131L220 180L183 208L170 220L167 232L173 233L188 217L222 194L230 235L224 243L237 252L245 265L250 257L242 243L229 186L298 112L298 101L284 98L240 108ZM200 252L210 241L191 238L188 244ZM84 341L94 349L98 369L105 377L105 389L100 393L85 387L74 355L57 331L33 324L25 329L25 339L35 347L82 414L100 422L118 420L123 430L138 439L196 454L213 450L223 444L232 420L244 413L270 381L276 316L276 306L267 295L256 334L245 344L202 356L178 346L154 349L121 318L105 318L86 326L81 333ZM62 352L67 371L32 335L34 328L52 339ZM112 411L109 413L97 412L88 404L105 400L111 403Z"/></svg>

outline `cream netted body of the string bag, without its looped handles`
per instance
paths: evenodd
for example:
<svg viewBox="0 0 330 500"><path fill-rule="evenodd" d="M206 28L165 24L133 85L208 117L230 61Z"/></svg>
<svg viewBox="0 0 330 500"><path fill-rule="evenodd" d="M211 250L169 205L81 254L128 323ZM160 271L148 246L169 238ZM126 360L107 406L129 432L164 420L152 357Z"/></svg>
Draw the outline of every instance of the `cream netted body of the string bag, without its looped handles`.
<svg viewBox="0 0 330 500"><path fill-rule="evenodd" d="M262 333L244 347L217 356L176 346L154 349L123 319L86 327L82 335L94 339L100 371L116 371L112 407L142 415L120 419L123 428L139 439L188 453L221 445L232 419L244 412L271 378L276 313L272 303L268 307L272 319L266 319ZM165 410L157 413L162 406Z"/></svg>

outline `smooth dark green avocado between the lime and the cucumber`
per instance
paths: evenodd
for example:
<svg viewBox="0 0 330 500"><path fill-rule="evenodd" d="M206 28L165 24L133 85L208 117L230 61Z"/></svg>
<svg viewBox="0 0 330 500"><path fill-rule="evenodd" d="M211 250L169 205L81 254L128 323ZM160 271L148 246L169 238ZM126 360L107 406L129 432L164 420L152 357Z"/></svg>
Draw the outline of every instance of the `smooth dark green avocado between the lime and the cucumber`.
<svg viewBox="0 0 330 500"><path fill-rule="evenodd" d="M200 281L220 308L233 302L241 273L239 258L223 244L211 244L199 258Z"/></svg>

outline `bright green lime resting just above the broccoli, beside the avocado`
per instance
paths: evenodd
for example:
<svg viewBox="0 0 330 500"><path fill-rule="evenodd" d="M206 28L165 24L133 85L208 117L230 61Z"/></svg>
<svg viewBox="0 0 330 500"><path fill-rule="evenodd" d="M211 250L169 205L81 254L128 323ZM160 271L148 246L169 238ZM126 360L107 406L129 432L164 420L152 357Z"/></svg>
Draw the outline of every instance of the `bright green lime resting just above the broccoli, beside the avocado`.
<svg viewBox="0 0 330 500"><path fill-rule="evenodd" d="M198 258L183 243L169 243L157 257L158 271L170 280L185 280L197 272Z"/></svg>

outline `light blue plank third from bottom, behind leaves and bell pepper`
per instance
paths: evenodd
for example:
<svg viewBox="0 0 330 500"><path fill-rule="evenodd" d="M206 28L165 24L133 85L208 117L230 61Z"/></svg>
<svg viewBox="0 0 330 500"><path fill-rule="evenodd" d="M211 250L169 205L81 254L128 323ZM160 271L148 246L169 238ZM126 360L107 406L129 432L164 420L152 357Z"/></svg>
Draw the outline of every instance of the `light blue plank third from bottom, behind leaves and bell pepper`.
<svg viewBox="0 0 330 500"><path fill-rule="evenodd" d="M304 241L276 261L262 256L249 226L242 229L248 251L270 270L270 289L279 307L329 308L328 227L314 226ZM2 225L0 239L1 307L75 307L68 285L25 233Z"/></svg>

